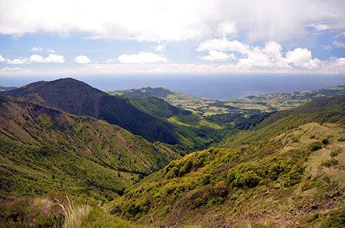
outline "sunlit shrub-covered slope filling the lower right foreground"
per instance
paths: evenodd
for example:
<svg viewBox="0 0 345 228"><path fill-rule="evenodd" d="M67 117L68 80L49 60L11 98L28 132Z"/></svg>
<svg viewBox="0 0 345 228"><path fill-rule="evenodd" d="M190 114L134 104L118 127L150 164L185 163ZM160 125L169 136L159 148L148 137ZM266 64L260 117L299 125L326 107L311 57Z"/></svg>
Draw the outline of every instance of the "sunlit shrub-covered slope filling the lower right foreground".
<svg viewBox="0 0 345 228"><path fill-rule="evenodd" d="M158 227L342 227L345 128L310 123L171 162L108 209Z"/></svg>

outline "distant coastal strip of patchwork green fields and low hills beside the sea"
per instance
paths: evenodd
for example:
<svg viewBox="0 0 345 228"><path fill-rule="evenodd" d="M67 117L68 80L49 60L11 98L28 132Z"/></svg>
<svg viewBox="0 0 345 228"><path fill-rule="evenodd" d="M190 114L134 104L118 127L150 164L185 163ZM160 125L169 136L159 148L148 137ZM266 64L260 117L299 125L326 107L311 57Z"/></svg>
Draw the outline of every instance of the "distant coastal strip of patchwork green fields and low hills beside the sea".
<svg viewBox="0 0 345 228"><path fill-rule="evenodd" d="M218 101L202 97L193 97L176 93L164 88L144 87L126 91L107 91L110 95L124 95L132 98L159 97L166 102L201 115L240 114L253 115L259 112L272 112L296 108L302 104L322 97L345 96L345 86L322 88L315 91L302 91L295 93L269 93L252 95L242 99L228 99Z"/></svg>

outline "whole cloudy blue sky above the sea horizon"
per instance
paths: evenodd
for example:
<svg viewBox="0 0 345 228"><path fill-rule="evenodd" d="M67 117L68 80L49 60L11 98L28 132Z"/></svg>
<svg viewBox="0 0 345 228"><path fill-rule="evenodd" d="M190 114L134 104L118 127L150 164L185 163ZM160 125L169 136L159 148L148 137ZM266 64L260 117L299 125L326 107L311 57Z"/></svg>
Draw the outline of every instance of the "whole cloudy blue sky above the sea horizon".
<svg viewBox="0 0 345 228"><path fill-rule="evenodd" d="M1 77L345 75L344 0L0 0Z"/></svg>

